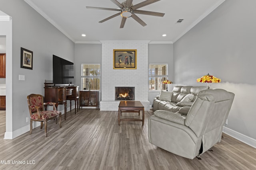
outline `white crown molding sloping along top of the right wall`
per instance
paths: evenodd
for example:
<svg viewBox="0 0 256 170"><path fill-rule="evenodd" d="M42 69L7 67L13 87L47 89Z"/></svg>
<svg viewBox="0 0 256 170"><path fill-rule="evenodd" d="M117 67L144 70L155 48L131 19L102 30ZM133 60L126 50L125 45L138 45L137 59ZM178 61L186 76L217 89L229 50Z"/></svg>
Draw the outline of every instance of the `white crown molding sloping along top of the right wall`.
<svg viewBox="0 0 256 170"><path fill-rule="evenodd" d="M194 23L192 23L184 32L182 32L176 39L174 39L173 43L175 43L180 37L186 34L190 29L192 29L196 24L198 24L201 20L203 20L208 14L210 14L213 10L215 10L220 4L222 4L225 0L218 0L215 4L213 4L202 16L200 16Z"/></svg>

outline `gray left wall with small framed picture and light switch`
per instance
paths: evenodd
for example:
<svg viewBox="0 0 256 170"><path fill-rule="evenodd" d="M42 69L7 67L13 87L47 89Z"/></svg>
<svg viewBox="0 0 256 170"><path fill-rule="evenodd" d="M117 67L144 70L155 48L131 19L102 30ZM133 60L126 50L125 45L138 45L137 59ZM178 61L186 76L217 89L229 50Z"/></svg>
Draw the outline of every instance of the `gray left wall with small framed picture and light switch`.
<svg viewBox="0 0 256 170"><path fill-rule="evenodd" d="M73 62L74 43L23 0L0 0L0 4L0 10L12 17L12 60L6 66L6 72L12 72L11 83L6 82L7 88L12 88L12 94L7 94L12 101L6 101L12 103L12 113L7 109L6 115L12 114L15 131L29 125L27 95L44 95L44 80L52 80L52 55ZM33 51L33 70L20 68L20 47ZM25 81L18 80L19 74L25 75Z"/></svg>

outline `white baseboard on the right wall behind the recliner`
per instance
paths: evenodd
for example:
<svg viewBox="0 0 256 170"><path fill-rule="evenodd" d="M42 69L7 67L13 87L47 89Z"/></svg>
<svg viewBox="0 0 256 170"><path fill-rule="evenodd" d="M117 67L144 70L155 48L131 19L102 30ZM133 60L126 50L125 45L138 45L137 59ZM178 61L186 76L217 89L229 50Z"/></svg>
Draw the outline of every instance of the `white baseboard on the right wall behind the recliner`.
<svg viewBox="0 0 256 170"><path fill-rule="evenodd" d="M229 129L228 127L223 127L223 133L226 133L227 135L230 135L231 137L237 139L238 141L241 141L251 147L256 148L256 139L253 139L251 137L243 135L242 133Z"/></svg>

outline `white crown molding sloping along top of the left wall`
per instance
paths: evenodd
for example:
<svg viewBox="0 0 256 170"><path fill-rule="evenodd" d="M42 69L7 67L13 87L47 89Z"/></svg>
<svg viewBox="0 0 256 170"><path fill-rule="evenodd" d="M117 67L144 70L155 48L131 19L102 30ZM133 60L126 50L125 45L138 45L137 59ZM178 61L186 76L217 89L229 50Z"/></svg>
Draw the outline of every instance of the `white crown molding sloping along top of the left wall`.
<svg viewBox="0 0 256 170"><path fill-rule="evenodd" d="M75 43L74 39L72 39L72 37L70 37L68 33L66 33L54 20L50 19L49 16L47 16L44 12L42 12L42 10L38 8L31 0L24 0L24 1L27 4L29 4L32 8L34 8L34 10L36 10L36 12L38 12L41 16L43 16L47 21L49 21L52 25L54 25L54 27L60 30L60 32L66 35L66 37L68 37L71 41Z"/></svg>

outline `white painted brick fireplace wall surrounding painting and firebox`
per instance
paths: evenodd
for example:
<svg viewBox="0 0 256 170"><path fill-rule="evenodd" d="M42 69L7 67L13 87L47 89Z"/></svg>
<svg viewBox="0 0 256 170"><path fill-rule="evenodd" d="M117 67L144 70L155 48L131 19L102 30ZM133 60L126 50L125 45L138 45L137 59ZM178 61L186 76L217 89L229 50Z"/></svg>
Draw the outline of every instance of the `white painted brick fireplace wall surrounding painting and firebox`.
<svg viewBox="0 0 256 170"><path fill-rule="evenodd" d="M148 43L149 41L101 41L102 43L102 100L100 110L116 111L116 86L135 87L135 100L149 110L148 101ZM113 69L114 49L136 49L137 69Z"/></svg>

